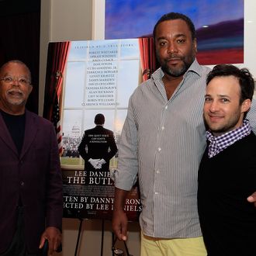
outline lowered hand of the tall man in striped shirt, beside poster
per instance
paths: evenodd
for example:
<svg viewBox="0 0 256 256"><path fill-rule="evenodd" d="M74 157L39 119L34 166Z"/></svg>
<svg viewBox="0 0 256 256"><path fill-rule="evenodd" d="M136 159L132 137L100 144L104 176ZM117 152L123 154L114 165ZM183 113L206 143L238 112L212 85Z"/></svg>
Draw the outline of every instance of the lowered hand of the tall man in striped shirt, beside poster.
<svg viewBox="0 0 256 256"><path fill-rule="evenodd" d="M127 240L128 219L123 209L112 212L112 230L119 240Z"/></svg>

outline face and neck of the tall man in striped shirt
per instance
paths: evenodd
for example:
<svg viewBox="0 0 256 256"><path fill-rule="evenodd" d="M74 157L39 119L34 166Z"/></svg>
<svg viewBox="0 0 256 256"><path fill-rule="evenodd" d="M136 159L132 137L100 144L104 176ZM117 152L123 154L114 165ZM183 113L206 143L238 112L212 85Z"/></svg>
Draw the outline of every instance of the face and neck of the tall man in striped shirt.
<svg viewBox="0 0 256 256"><path fill-rule="evenodd" d="M157 26L155 34L157 60L164 71L167 98L175 92L183 74L195 60L196 40L182 19L167 20Z"/></svg>

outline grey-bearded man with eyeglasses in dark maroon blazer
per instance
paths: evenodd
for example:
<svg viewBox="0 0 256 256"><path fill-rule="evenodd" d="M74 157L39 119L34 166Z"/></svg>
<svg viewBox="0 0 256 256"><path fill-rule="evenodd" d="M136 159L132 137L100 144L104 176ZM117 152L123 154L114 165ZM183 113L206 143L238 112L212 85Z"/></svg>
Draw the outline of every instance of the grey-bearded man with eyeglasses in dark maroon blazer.
<svg viewBox="0 0 256 256"><path fill-rule="evenodd" d="M22 61L0 67L0 255L47 255L61 244L62 178L54 126L26 110Z"/></svg>

